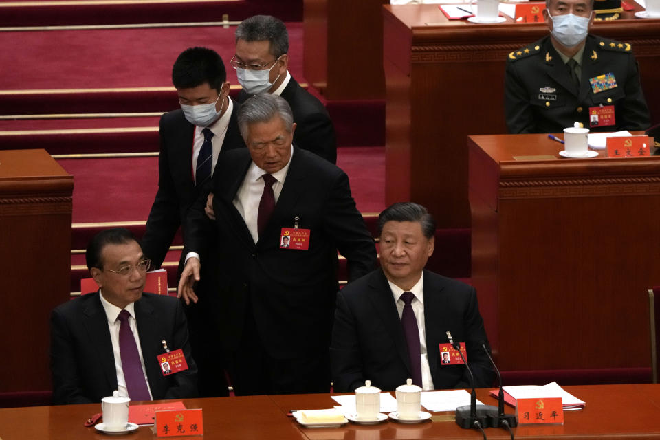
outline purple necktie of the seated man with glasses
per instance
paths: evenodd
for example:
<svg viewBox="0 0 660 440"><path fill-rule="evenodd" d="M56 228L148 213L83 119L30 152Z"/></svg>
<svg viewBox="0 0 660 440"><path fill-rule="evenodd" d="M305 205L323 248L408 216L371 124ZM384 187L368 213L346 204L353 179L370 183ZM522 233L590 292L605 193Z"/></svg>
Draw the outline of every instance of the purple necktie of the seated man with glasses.
<svg viewBox="0 0 660 440"><path fill-rule="evenodd" d="M129 326L129 316L131 314L128 311L122 310L117 317L122 322L119 327L119 353L122 357L126 391L129 392L132 401L151 400L140 363L140 353L137 352L135 337Z"/></svg>

